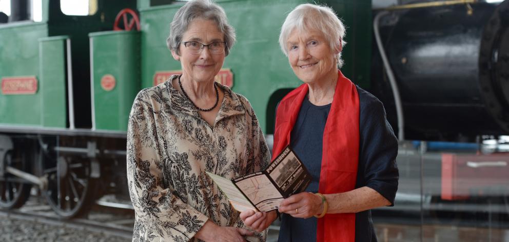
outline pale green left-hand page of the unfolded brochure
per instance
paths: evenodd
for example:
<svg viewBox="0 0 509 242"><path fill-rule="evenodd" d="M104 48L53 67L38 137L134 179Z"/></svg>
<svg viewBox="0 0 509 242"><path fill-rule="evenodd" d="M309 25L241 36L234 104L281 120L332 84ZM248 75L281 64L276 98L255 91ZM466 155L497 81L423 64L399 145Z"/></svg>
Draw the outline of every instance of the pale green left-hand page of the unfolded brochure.
<svg viewBox="0 0 509 242"><path fill-rule="evenodd" d="M218 185L218 187L223 191L224 194L230 200L230 204L233 209L243 212L245 210L254 210L257 209L251 204L251 202L244 196L244 194L233 184L233 182L229 179L226 179L222 176L218 176L216 174L212 174L210 172L206 172L207 175L212 178L214 183Z"/></svg>

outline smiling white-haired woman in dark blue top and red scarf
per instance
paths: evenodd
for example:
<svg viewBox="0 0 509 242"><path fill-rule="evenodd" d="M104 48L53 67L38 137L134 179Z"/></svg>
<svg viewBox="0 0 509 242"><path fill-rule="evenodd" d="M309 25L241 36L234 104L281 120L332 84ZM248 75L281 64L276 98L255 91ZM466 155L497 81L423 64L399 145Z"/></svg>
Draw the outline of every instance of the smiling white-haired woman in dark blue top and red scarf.
<svg viewBox="0 0 509 242"><path fill-rule="evenodd" d="M281 30L281 49L304 84L278 106L272 155L290 145L312 181L282 201L279 241L377 241L370 209L394 203L398 142L382 103L341 73L344 35L332 9L312 4L291 11ZM241 218L261 231L276 212Z"/></svg>

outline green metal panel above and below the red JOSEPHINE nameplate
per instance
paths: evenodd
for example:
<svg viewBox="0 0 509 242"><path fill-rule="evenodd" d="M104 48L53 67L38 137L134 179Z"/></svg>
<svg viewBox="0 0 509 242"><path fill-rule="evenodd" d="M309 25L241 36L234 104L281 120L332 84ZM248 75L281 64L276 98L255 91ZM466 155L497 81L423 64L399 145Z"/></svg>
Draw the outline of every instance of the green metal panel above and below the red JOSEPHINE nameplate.
<svg viewBox="0 0 509 242"><path fill-rule="evenodd" d="M39 43L48 36L45 23L0 25L0 78L36 76L39 79ZM42 93L4 95L0 92L0 124L41 126Z"/></svg>

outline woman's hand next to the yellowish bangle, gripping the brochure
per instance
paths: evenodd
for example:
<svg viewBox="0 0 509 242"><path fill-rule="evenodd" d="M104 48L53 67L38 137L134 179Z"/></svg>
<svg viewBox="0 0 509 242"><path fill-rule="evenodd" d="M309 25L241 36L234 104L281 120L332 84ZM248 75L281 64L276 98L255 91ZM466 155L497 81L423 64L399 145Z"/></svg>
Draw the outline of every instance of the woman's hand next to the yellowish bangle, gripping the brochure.
<svg viewBox="0 0 509 242"><path fill-rule="evenodd" d="M322 199L309 192L293 194L281 201L280 213L287 213L292 217L308 218L323 211Z"/></svg>

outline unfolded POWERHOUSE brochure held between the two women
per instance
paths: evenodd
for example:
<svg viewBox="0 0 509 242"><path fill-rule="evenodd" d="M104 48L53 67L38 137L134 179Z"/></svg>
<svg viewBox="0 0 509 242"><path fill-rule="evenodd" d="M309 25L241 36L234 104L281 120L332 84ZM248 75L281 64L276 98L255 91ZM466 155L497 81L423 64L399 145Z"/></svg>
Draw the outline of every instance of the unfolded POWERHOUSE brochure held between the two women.
<svg viewBox="0 0 509 242"><path fill-rule="evenodd" d="M303 192L311 175L297 155L287 146L269 167L234 179L207 172L223 191L233 209L268 212L279 208L284 198Z"/></svg>

